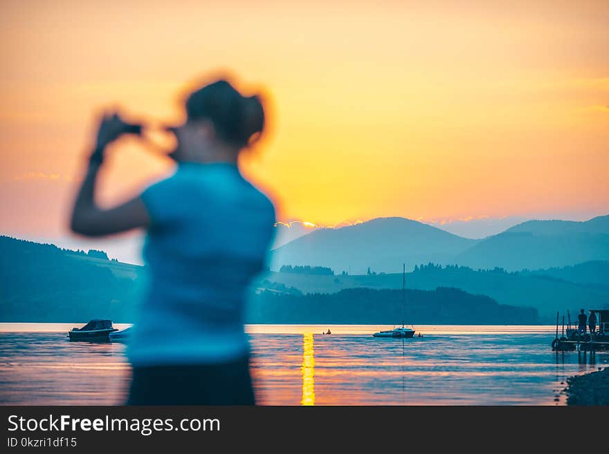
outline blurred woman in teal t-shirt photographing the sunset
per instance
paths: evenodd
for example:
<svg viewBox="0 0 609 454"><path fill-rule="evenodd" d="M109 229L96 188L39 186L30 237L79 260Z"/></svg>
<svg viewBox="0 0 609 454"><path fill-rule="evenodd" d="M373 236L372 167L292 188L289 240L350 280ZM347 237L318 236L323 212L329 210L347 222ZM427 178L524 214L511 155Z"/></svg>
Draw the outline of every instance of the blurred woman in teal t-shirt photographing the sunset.
<svg viewBox="0 0 609 454"><path fill-rule="evenodd" d="M191 93L185 111L172 129L175 173L111 209L95 202L104 149L137 129L116 113L103 117L71 228L86 236L147 229L149 285L127 348L128 404L254 404L244 299L264 267L275 210L237 159L262 133L264 108L219 80Z"/></svg>

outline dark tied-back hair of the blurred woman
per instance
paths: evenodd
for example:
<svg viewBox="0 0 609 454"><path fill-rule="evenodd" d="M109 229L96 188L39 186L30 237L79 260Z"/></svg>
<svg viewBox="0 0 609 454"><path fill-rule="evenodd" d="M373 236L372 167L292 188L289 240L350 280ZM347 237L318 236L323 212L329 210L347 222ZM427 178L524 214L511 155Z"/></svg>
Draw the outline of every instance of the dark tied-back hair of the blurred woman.
<svg viewBox="0 0 609 454"><path fill-rule="evenodd" d="M210 120L222 140L239 148L255 141L264 129L260 97L245 97L226 80L190 93L186 100L186 115L188 120Z"/></svg>

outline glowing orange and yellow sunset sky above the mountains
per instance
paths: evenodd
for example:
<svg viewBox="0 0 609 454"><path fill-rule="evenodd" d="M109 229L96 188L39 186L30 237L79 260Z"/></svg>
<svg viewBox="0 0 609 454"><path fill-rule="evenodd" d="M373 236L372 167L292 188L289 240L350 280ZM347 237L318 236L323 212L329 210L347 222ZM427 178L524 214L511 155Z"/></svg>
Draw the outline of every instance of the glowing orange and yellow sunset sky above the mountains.
<svg viewBox="0 0 609 454"><path fill-rule="evenodd" d="M244 169L282 220L607 214L608 23L606 0L4 0L0 233L64 231L96 109L174 120L223 68L272 99ZM164 170L127 144L105 200Z"/></svg>

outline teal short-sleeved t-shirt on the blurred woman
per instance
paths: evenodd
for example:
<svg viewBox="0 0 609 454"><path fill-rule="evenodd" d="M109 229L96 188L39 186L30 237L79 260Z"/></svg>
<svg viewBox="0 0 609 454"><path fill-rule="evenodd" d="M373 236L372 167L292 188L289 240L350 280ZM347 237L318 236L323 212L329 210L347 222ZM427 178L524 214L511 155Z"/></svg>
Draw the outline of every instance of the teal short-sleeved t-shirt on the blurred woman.
<svg viewBox="0 0 609 454"><path fill-rule="evenodd" d="M269 198L233 164L188 163L142 200L151 219L148 282L131 363L218 363L247 354L244 301L273 239Z"/></svg>

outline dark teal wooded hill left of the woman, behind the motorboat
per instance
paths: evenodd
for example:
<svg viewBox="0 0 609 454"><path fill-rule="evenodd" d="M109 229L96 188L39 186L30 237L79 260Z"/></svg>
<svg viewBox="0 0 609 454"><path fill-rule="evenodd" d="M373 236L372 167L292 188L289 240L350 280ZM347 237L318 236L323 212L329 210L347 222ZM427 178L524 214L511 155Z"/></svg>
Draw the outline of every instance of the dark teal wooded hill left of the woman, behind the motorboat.
<svg viewBox="0 0 609 454"><path fill-rule="evenodd" d="M104 256L0 236L0 321L131 321L134 265Z"/></svg>

